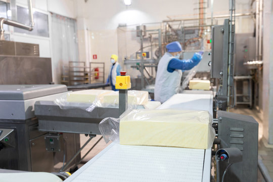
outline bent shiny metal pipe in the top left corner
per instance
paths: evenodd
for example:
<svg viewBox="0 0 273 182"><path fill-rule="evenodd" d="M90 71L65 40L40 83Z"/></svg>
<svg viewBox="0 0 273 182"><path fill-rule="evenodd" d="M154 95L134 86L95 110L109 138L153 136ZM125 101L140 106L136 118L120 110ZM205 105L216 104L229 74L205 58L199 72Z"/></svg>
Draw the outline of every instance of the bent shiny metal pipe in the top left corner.
<svg viewBox="0 0 273 182"><path fill-rule="evenodd" d="M5 40L4 37L4 23L7 25L15 26L18 28L22 28L28 31L33 30L34 22L33 22L33 12L32 12L32 1L28 0L28 11L29 11L29 19L30 23L29 25L25 25L23 23L19 23L17 21L9 20L6 18L0 18L0 40Z"/></svg>

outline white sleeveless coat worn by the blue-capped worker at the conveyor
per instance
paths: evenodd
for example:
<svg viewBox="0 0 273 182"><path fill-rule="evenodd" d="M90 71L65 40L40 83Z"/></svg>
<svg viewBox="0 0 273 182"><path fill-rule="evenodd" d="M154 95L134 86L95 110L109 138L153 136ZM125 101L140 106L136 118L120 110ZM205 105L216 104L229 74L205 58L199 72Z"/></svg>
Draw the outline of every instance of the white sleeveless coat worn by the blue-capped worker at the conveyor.
<svg viewBox="0 0 273 182"><path fill-rule="evenodd" d="M173 58L175 57L170 53L165 53L157 66L154 94L155 100L161 103L177 94L180 89L182 70L176 69L172 73L167 71L168 64Z"/></svg>

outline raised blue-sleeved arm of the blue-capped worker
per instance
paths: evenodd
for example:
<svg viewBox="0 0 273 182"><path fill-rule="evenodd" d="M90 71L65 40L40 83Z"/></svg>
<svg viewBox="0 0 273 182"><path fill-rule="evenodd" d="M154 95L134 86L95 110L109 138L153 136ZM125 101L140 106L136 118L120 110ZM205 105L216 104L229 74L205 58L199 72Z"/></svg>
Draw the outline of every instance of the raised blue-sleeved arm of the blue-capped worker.
<svg viewBox="0 0 273 182"><path fill-rule="evenodd" d="M180 70L190 70L202 60L202 56L199 53L195 53L192 59L188 60L179 60L176 58L173 58L170 60L167 71L172 73L175 69Z"/></svg>

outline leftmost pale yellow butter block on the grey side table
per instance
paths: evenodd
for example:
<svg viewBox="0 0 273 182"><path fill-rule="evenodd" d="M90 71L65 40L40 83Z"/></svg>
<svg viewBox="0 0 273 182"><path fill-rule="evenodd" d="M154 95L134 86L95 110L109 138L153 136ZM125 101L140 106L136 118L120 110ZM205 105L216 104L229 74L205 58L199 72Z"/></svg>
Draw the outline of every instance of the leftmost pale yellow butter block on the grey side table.
<svg viewBox="0 0 273 182"><path fill-rule="evenodd" d="M105 94L114 93L112 90L105 89L86 89L67 94L67 102L93 103L94 101L102 102Z"/></svg>

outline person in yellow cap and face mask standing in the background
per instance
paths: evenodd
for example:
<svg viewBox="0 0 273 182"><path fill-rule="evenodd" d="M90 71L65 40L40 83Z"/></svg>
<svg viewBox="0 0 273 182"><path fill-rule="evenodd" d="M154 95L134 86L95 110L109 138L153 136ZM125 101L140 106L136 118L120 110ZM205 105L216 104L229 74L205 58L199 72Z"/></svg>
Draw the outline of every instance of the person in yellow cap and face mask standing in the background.
<svg viewBox="0 0 273 182"><path fill-rule="evenodd" d="M110 61L111 66L109 69L109 76L107 78L106 83L110 83L112 90L117 91L116 89L116 76L120 76L121 67L119 63L117 62L118 56L117 55L111 55Z"/></svg>

